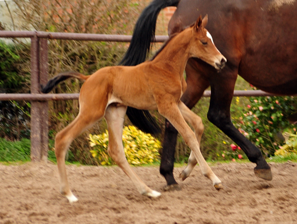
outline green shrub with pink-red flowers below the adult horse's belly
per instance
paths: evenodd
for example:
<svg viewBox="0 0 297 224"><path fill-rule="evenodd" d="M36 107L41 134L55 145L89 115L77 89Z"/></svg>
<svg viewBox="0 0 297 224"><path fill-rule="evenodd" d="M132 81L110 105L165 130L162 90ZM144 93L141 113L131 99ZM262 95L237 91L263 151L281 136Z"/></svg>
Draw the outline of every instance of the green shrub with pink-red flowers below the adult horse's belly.
<svg viewBox="0 0 297 224"><path fill-rule="evenodd" d="M296 99L293 96L250 97L248 110L240 117L239 131L266 156L274 155L279 144L277 134L294 128L288 116L296 111Z"/></svg>

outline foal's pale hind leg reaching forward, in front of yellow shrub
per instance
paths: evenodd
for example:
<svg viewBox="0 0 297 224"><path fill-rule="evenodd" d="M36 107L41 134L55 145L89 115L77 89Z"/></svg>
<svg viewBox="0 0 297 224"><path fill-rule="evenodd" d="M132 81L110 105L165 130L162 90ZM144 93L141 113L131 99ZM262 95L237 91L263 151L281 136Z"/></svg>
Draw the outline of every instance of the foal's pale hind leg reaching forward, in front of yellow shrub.
<svg viewBox="0 0 297 224"><path fill-rule="evenodd" d="M111 104L105 111L105 119L108 126L108 154L133 181L141 194L149 197L158 197L161 193L150 189L131 169L125 157L122 135L126 110L126 106L116 106Z"/></svg>

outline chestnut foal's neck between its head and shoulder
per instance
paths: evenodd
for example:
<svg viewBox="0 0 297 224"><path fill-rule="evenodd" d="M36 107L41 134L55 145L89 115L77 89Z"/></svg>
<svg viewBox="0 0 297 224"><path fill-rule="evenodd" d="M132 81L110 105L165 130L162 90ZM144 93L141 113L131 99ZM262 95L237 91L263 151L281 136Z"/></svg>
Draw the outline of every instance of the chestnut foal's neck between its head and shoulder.
<svg viewBox="0 0 297 224"><path fill-rule="evenodd" d="M173 37L167 45L152 60L156 65L166 65L172 73L183 75L187 61L189 59L189 42L192 36L191 29L184 30Z"/></svg>

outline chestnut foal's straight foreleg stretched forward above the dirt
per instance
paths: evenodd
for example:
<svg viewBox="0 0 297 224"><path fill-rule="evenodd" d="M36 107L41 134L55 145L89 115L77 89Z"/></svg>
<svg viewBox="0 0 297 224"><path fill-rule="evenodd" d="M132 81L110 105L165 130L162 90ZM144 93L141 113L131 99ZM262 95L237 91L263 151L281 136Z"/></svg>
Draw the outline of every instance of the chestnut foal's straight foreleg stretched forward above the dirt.
<svg viewBox="0 0 297 224"><path fill-rule="evenodd" d="M166 102L166 104L157 102L159 113L167 118L168 121L170 121L170 123L183 136L186 144L191 148L196 159L198 160L202 174L212 181L212 184L216 189L220 189L222 187L221 181L216 177L216 175L212 172L212 170L204 160L200 152L197 136L187 125L184 117L195 127L195 131L198 132L198 138L199 135L201 135L203 132L203 126L201 127L200 122L196 122L193 119L194 113L192 114L190 112L190 109L188 109L184 103L179 102L179 104L176 105L176 103L174 103L174 101L170 99L163 100L163 102ZM169 105L171 106L169 107ZM198 116L196 116L196 118L197 117Z"/></svg>

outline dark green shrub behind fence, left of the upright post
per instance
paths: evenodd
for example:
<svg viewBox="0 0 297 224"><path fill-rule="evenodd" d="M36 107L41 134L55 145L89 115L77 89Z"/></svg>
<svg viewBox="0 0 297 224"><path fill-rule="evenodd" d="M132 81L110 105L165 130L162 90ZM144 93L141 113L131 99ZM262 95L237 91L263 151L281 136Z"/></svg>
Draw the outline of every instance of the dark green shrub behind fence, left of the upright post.
<svg viewBox="0 0 297 224"><path fill-rule="evenodd" d="M28 92L29 72L23 58L25 45L0 41L0 93ZM0 137L19 140L30 137L29 103L0 101Z"/></svg>

